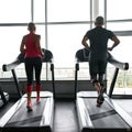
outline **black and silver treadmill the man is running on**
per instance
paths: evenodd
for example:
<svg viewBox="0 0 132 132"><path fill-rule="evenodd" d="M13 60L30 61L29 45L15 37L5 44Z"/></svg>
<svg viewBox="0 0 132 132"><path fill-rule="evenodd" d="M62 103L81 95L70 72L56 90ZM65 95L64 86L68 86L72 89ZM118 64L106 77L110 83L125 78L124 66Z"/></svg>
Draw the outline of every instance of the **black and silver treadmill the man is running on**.
<svg viewBox="0 0 132 132"><path fill-rule="evenodd" d="M89 52L86 48L78 50L76 53L75 98L80 132L132 131L132 118L111 99L119 69L128 70L129 64L118 62L108 53L108 62L116 67L116 70L109 94L105 94L103 103L97 107L97 91L78 91L77 89L79 63L88 63L88 55Z"/></svg>

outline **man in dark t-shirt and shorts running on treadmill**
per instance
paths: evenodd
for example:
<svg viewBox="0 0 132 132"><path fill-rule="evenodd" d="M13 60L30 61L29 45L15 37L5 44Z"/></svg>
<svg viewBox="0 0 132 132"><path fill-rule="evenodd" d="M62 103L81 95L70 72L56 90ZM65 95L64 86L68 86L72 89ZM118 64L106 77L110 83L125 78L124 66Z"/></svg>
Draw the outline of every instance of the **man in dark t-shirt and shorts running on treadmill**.
<svg viewBox="0 0 132 132"><path fill-rule="evenodd" d="M103 75L107 67L107 52L112 51L119 43L119 38L112 31L102 28L103 18L97 16L95 21L96 28L89 30L82 38L82 45L89 50L89 73L91 82L97 89L98 98L97 106L99 107L105 98L102 92L106 90L103 87ZM113 41L111 47L108 47L108 40ZM89 44L87 43L89 41Z"/></svg>

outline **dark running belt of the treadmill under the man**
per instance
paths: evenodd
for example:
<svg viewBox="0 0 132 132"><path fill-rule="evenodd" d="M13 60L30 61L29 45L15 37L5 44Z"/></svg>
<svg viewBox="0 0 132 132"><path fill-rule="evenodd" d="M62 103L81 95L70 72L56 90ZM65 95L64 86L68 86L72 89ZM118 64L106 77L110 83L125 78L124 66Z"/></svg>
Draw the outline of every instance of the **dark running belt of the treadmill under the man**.
<svg viewBox="0 0 132 132"><path fill-rule="evenodd" d="M85 106L95 128L127 129L129 125L116 110L105 101L101 107L96 106L97 98L84 98Z"/></svg>

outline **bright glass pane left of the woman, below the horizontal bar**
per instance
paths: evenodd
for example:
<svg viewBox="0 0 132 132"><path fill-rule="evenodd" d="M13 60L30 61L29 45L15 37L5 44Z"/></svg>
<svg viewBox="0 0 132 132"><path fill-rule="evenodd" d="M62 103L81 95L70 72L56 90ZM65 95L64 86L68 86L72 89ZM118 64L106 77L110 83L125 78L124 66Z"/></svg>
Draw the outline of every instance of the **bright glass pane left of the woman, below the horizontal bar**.
<svg viewBox="0 0 132 132"><path fill-rule="evenodd" d="M11 63L20 53L20 44L23 34L26 33L26 28L18 26L0 26L1 47L0 48L0 65ZM4 55L4 58L3 58Z"/></svg>

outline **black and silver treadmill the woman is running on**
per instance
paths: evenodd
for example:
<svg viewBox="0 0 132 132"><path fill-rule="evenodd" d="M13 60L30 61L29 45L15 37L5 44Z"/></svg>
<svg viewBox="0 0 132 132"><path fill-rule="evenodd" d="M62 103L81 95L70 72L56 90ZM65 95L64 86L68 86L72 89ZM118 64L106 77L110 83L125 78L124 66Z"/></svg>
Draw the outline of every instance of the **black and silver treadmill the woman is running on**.
<svg viewBox="0 0 132 132"><path fill-rule="evenodd" d="M12 72L16 86L19 100L9 109L9 111L0 119L0 132L52 132L53 113L54 113L54 64L53 54L48 50L44 50L43 63L50 63L52 72L52 91L41 91L41 102L37 103L36 92L32 91L33 111L26 111L26 95L22 95L19 87L19 79L15 75L15 67L24 62L24 54L21 53L16 59L8 65L3 65L3 72Z"/></svg>

